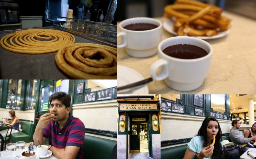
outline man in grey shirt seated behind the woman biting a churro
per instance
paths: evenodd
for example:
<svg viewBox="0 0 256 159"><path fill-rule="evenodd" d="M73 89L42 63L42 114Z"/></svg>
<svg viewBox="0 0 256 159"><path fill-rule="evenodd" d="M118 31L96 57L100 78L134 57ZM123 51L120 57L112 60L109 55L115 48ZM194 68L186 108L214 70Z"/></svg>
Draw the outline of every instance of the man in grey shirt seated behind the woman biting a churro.
<svg viewBox="0 0 256 159"><path fill-rule="evenodd" d="M250 147L254 148L253 146L248 144L248 142L251 142L251 140L255 140L256 136L251 138L244 137L244 135L241 134L238 130L241 125L239 120L233 120L231 125L232 128L230 129L229 133L230 140L234 142L235 145L242 145L242 153L246 152L247 149L249 149Z"/></svg>

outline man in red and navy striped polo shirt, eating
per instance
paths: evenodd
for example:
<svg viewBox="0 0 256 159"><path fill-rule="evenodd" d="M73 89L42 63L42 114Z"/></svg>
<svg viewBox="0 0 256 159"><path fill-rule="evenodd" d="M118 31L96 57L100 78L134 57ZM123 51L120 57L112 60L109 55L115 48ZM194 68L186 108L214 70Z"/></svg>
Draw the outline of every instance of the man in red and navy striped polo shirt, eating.
<svg viewBox="0 0 256 159"><path fill-rule="evenodd" d="M35 145L49 137L48 149L58 159L83 159L85 125L70 113L70 95L56 92L49 97L50 113L40 117L33 135Z"/></svg>

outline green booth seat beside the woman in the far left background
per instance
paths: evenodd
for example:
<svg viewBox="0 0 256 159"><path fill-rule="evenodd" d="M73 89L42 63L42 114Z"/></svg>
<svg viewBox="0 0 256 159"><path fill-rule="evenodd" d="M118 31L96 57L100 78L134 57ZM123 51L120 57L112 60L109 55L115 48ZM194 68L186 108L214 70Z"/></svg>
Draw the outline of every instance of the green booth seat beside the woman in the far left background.
<svg viewBox="0 0 256 159"><path fill-rule="evenodd" d="M22 131L11 135L12 142L24 141L26 143L33 141L33 123L20 122Z"/></svg>

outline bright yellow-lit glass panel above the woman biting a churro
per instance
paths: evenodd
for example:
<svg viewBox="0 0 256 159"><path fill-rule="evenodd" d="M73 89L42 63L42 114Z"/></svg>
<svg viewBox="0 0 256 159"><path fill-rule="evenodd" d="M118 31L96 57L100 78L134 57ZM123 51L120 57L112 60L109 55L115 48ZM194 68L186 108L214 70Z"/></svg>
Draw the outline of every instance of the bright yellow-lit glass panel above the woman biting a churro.
<svg viewBox="0 0 256 159"><path fill-rule="evenodd" d="M225 95L211 95L211 108L214 112L225 113Z"/></svg>

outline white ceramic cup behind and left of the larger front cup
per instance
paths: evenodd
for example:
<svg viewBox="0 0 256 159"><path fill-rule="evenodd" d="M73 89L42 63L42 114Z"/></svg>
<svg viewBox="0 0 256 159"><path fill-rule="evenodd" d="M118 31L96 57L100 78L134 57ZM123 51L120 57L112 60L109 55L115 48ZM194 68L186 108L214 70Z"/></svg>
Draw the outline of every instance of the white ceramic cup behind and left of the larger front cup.
<svg viewBox="0 0 256 159"><path fill-rule="evenodd" d="M149 23L158 27L151 30L134 31L124 29L125 26L133 23ZM119 27L118 37L121 43L118 48L125 47L128 55L135 58L145 58L157 53L157 46L162 40L162 23L159 20L148 17L136 17L123 20Z"/></svg>

